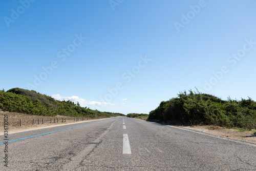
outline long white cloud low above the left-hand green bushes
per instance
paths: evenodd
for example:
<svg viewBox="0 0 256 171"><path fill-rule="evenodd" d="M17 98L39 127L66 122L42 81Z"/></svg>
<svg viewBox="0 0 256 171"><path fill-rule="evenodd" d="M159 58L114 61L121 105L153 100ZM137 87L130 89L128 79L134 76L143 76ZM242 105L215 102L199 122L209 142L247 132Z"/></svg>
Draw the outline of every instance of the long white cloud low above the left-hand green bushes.
<svg viewBox="0 0 256 171"><path fill-rule="evenodd" d="M85 99L79 98L78 96L62 97L59 94L53 94L50 97L52 97L56 100L65 100L65 101L69 100L74 103L79 102L80 106L82 106L82 107L86 107L86 106L90 106L90 105L91 106L107 106L107 105L114 106L115 105L114 103L110 103L110 102L87 101Z"/></svg>

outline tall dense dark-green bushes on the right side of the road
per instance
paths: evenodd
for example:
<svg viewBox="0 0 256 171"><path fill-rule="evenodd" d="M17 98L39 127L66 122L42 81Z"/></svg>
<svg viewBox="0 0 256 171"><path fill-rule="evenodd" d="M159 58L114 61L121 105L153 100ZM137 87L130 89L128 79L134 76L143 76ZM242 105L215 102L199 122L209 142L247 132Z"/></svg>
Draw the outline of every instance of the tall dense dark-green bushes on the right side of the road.
<svg viewBox="0 0 256 171"><path fill-rule="evenodd" d="M221 100L210 94L180 92L177 98L162 101L150 112L148 119L189 125L217 125L224 127L256 128L256 102Z"/></svg>

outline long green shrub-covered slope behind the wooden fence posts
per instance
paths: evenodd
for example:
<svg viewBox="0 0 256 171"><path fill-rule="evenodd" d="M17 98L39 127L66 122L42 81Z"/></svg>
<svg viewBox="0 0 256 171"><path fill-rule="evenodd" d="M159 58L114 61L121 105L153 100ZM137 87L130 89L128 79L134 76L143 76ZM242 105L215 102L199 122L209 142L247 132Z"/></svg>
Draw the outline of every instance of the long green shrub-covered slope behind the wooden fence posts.
<svg viewBox="0 0 256 171"><path fill-rule="evenodd" d="M42 116L62 115L91 118L125 116L121 113L92 110L81 107L78 102L75 104L71 101L59 101L34 90L21 88L12 88L6 92L0 90L0 109Z"/></svg>

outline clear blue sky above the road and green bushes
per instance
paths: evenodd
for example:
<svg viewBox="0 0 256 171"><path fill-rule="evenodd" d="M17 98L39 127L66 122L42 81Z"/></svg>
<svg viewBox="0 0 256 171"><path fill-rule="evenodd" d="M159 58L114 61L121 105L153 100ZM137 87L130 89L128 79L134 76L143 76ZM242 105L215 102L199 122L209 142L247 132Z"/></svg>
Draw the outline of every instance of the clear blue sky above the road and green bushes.
<svg viewBox="0 0 256 171"><path fill-rule="evenodd" d="M179 91L254 101L256 1L1 1L0 89L148 113Z"/></svg>

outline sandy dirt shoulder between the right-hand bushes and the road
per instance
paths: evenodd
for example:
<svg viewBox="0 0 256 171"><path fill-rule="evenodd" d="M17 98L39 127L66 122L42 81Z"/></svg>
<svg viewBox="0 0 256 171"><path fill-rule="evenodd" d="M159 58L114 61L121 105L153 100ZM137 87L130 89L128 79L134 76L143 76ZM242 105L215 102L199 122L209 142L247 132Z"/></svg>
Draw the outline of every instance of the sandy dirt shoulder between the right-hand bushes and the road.
<svg viewBox="0 0 256 171"><path fill-rule="evenodd" d="M227 137L230 139L243 140L256 144L256 130L241 131L239 129L227 129L219 126L184 126L185 128L195 129L206 132L207 134Z"/></svg>

